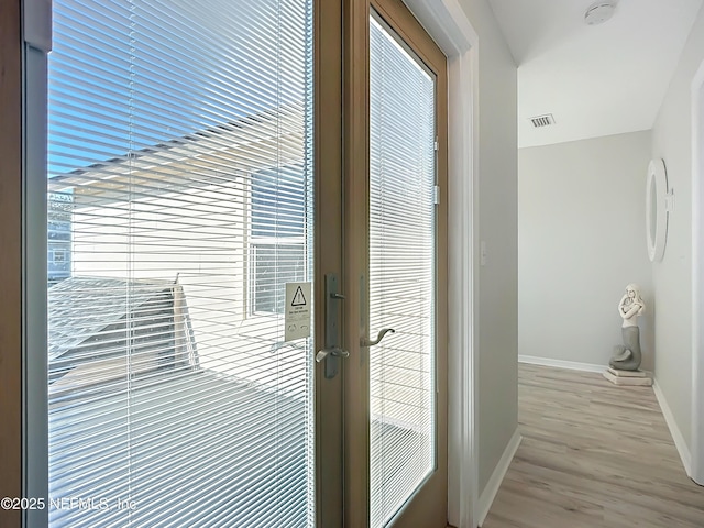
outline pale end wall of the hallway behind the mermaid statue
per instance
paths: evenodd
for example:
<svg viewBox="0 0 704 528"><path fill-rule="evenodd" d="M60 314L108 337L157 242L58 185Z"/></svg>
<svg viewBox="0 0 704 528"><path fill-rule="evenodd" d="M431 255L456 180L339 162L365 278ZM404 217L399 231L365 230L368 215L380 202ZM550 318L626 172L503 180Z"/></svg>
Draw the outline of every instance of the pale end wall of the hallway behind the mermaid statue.
<svg viewBox="0 0 704 528"><path fill-rule="evenodd" d="M618 302L638 283L642 365L652 369L650 141L648 131L519 150L519 354L608 364L622 342Z"/></svg>

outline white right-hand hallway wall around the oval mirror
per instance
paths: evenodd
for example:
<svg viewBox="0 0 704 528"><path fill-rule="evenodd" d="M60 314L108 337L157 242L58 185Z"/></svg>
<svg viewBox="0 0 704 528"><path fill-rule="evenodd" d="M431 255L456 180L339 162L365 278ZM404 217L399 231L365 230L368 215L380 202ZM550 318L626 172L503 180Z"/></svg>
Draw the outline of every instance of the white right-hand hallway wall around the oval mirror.
<svg viewBox="0 0 704 528"><path fill-rule="evenodd" d="M691 438L692 385L692 148L691 84L704 61L704 8L700 11L652 131L652 157L662 157L674 189L668 243L662 262L652 265L658 384L688 447Z"/></svg>

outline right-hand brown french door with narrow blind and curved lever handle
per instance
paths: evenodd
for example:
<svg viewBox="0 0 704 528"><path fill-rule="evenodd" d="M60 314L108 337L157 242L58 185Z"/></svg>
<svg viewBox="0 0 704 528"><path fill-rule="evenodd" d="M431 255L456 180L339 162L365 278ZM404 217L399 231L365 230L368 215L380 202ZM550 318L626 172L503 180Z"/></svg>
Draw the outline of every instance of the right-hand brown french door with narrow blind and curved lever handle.
<svg viewBox="0 0 704 528"><path fill-rule="evenodd" d="M350 8L345 522L444 527L446 57L400 1Z"/></svg>

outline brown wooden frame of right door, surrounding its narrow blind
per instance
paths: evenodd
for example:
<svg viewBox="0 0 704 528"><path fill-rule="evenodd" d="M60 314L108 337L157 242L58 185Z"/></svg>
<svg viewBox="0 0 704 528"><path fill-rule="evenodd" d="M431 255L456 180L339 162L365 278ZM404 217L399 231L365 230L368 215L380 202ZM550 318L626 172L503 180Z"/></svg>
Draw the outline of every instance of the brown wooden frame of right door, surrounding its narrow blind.
<svg viewBox="0 0 704 528"><path fill-rule="evenodd" d="M438 208L439 238L437 262L437 287L441 293L437 304L436 326L438 343L447 351L448 343L448 65L443 52L428 37L428 33L418 20L408 11L400 0L348 0L345 2L345 290L348 293L345 318L345 346L351 352L345 364L345 516L344 526L367 526L369 494L370 494L370 385L369 348L359 345L360 339L369 338L369 178L370 178L370 14L374 9L398 35L414 48L416 54L437 75L437 122L436 131L440 150L438 152L438 185L441 188L440 206ZM358 316L359 315L359 316ZM405 524L413 519L414 526L431 526L442 517L448 517L448 364L447 355L439 354L437 363L437 383L446 391L439 393L437 402L438 430L437 441L440 449L437 460L438 468L430 477L440 480L444 485L433 486L431 490L441 492L440 495L428 497L424 507L417 502L408 504L399 513L398 521ZM353 397L352 397L352 396ZM366 427L360 427L364 424ZM429 490L426 491L428 493ZM438 510L440 508L440 510ZM402 526L399 525L399 526Z"/></svg>

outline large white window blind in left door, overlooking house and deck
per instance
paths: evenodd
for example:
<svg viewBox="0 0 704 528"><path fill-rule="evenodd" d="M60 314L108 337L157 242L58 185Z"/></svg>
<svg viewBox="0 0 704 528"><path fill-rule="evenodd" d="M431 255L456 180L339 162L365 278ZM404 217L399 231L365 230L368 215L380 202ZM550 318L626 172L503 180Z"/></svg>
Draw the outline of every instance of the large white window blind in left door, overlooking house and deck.
<svg viewBox="0 0 704 528"><path fill-rule="evenodd" d="M53 10L50 526L312 526L312 0Z"/></svg>

